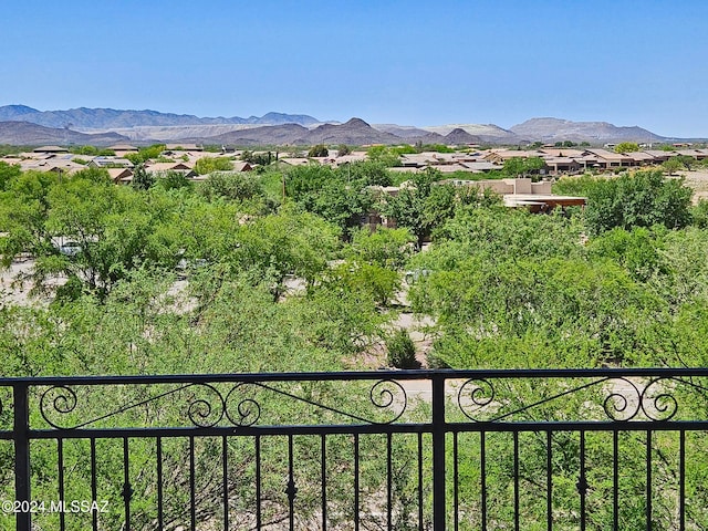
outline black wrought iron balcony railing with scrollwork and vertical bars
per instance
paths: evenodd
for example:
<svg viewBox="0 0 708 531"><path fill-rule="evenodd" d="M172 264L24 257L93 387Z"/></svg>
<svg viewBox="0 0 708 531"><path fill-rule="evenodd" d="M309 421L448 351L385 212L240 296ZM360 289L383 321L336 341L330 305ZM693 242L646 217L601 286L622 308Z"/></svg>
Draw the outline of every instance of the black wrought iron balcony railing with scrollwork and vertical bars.
<svg viewBox="0 0 708 531"><path fill-rule="evenodd" d="M708 527L708 369L0 379L2 529Z"/></svg>

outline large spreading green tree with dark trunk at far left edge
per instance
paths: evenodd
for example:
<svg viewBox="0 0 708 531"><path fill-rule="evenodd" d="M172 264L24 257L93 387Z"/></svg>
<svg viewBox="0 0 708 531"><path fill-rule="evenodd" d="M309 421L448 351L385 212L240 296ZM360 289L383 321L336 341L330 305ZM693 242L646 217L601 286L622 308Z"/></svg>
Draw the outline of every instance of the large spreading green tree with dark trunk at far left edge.
<svg viewBox="0 0 708 531"><path fill-rule="evenodd" d="M34 178L33 185L42 178L23 177ZM34 187L15 196L24 207L7 226L3 260L9 263L21 252L34 257L35 291L46 291L52 279L65 277L64 292L73 290L75 295L86 289L103 299L128 271L165 268L174 260L165 252L167 246L155 240L160 223L171 220L164 202L96 179L93 173L84 177L88 178L73 177L45 191ZM30 192L41 194L39 200L32 200ZM8 206L17 210L3 200Z"/></svg>

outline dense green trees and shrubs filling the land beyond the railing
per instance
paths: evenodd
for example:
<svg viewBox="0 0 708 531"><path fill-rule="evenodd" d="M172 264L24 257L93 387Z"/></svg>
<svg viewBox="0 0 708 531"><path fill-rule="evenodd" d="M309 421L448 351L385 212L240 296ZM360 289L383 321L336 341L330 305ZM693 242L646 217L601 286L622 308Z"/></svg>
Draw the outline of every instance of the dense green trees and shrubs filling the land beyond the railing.
<svg viewBox="0 0 708 531"><path fill-rule="evenodd" d="M427 331L434 340L433 366L708 364L706 207L690 208L683 181L660 173L564 179L556 190L587 197L587 207L531 215L507 209L475 188L437 184L441 176L435 171L406 176L398 195L386 195L381 188L392 183L386 159L398 155L384 148L369 156L336 169L310 165L256 176L212 171L189 186L156 179L116 187L95 169L60 181L53 174L0 164L2 263L31 257L34 268L25 281L46 296L33 305L2 299L3 374L345 369L364 366L366 356L385 346L392 364L414 366L408 332L394 332L391 324L404 287L413 311L434 323ZM395 218L398 228L360 229L369 211ZM428 240L427 250L416 252ZM549 392L516 391L529 399ZM350 399L326 386L312 393ZM127 398L103 400L107 407ZM566 406L569 412L580 407L572 400ZM168 407L159 413L163 418L178 414ZM295 421L299 412L283 404L279 414ZM508 485L508 442L490 438L499 452L488 472L489 485L497 486L489 493L492 503ZM372 469L385 454L377 444L362 446ZM610 459L611 444L589 438L589 462ZM675 446L664 439L657 444ZM208 476L215 450L205 445L197 466ZM633 450L637 438L622 445L626 466L639 466ZM543 442L529 437L522 446L532 467ZM399 529L407 529L406 496L415 473L406 468L405 455L412 447L415 442L400 438L392 450L400 470ZM460 447L469 462L479 460L476 445ZM556 459L564 458L566 447L576 445L566 441ZM303 448L303 454L315 451ZM38 445L34 451L41 458L51 450ZM239 480L248 482L250 450L231 450ZM132 451L139 467L153 450L136 445ZM333 459L337 451L331 449ZM184 454L185 448L173 449ZM166 467L179 470L179 465L176 458ZM121 465L105 466L115 472ZM562 462L558 466L564 470ZM40 472L38 492L51 490L54 478ZM475 473L461 467L462 494L478 481ZM277 485L274 469L264 475ZM371 496L383 481L373 477L366 486ZM11 485L4 479L2 489ZM563 479L575 481L570 472ZM184 481L176 477L176 491ZM702 500L699 483L696 476L688 488ZM333 479L331 488L339 485ZM561 482L556 496L570 497L568 485ZM204 488L208 494L209 486ZM345 500L344 490L339 494ZM333 502L339 494L333 492ZM178 497L170 503L179 510ZM504 510L501 503L499 510ZM537 511L533 503L523 510ZM628 521L641 520L642 508L627 507L626 513ZM148 529L150 520L143 518ZM187 516L180 518L175 525ZM563 518L576 523L572 514ZM602 525L598 521L595 529Z"/></svg>

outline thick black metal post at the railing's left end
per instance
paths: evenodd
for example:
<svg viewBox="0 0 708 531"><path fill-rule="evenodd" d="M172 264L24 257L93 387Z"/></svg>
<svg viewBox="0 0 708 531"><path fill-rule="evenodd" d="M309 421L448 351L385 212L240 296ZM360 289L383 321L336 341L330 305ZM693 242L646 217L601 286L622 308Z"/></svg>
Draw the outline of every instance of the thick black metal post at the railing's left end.
<svg viewBox="0 0 708 531"><path fill-rule="evenodd" d="M15 382L13 394L13 439L14 439L14 499L30 501L30 407L28 404L28 384ZM27 503L25 503L27 504ZM20 506L22 508L22 506ZM15 514L17 530L31 531L32 513Z"/></svg>

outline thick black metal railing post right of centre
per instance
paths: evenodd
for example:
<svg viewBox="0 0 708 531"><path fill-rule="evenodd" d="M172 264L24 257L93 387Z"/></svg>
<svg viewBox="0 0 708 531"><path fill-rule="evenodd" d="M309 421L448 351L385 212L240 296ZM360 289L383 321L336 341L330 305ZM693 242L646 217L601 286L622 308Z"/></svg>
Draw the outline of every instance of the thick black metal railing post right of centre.
<svg viewBox="0 0 708 531"><path fill-rule="evenodd" d="M445 531L447 523L445 485L445 376L433 375L433 529Z"/></svg>

